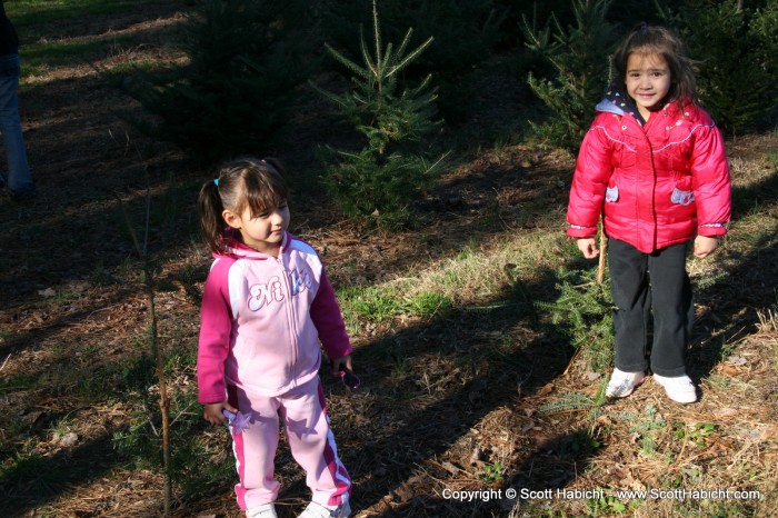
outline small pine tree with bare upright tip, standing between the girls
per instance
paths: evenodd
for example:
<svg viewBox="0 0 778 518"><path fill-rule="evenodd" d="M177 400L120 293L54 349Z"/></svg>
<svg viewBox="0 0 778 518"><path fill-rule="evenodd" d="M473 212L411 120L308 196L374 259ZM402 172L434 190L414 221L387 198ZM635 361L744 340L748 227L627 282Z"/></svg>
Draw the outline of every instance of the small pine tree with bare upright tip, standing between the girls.
<svg viewBox="0 0 778 518"><path fill-rule="evenodd" d="M339 108L366 145L359 151L325 150L328 191L343 213L379 226L403 225L410 201L442 169L442 157L428 160L423 141L439 124L433 120L431 77L413 88L399 81L401 72L432 42L429 38L411 50L412 34L409 29L397 48L392 43L385 47L373 1L372 49L362 33L361 63L327 46L353 74L352 90L332 93L312 84Z"/></svg>

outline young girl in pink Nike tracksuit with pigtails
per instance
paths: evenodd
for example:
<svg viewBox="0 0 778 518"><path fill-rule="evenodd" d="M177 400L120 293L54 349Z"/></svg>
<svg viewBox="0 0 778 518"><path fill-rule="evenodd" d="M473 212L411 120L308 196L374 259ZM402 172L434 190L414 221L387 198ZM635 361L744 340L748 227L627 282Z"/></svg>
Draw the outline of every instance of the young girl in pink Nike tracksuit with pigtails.
<svg viewBox="0 0 778 518"><path fill-rule="evenodd" d="M202 186L199 213L215 261L202 297L199 402L213 425L225 410L248 417L232 428L247 517L276 517L273 460L279 416L313 497L306 518L347 517L351 480L338 457L318 372L351 370L351 345L321 259L287 232L288 190L271 159L227 163Z"/></svg>

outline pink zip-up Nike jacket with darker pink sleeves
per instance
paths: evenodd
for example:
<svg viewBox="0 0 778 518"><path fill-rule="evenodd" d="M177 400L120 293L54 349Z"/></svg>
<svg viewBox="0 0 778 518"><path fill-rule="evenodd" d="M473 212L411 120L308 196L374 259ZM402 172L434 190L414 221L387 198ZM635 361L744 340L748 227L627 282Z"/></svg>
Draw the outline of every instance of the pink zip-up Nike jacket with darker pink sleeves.
<svg viewBox="0 0 778 518"><path fill-rule="evenodd" d="M286 233L278 258L235 240L206 280L197 359L198 401L226 399L227 385L273 397L311 380L321 363L351 353L321 259Z"/></svg>

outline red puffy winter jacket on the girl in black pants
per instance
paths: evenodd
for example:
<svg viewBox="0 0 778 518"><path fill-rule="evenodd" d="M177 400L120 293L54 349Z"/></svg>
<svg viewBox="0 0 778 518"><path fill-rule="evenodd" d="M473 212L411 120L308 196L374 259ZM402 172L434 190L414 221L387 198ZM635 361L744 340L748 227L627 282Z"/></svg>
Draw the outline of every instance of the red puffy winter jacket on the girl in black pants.
<svg viewBox="0 0 778 518"><path fill-rule="evenodd" d="M642 127L609 100L597 111L576 163L568 236L595 237L601 212L608 237L645 253L727 232L729 167L705 110L672 102Z"/></svg>

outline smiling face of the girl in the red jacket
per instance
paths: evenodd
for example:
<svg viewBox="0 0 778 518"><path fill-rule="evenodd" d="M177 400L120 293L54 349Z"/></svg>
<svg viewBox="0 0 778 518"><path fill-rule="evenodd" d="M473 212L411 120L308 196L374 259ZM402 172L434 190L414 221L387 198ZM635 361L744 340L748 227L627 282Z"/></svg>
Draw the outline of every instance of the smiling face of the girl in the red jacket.
<svg viewBox="0 0 778 518"><path fill-rule="evenodd" d="M625 84L638 111L648 120L652 111L661 109L670 91L670 67L661 54L632 52L627 59Z"/></svg>

